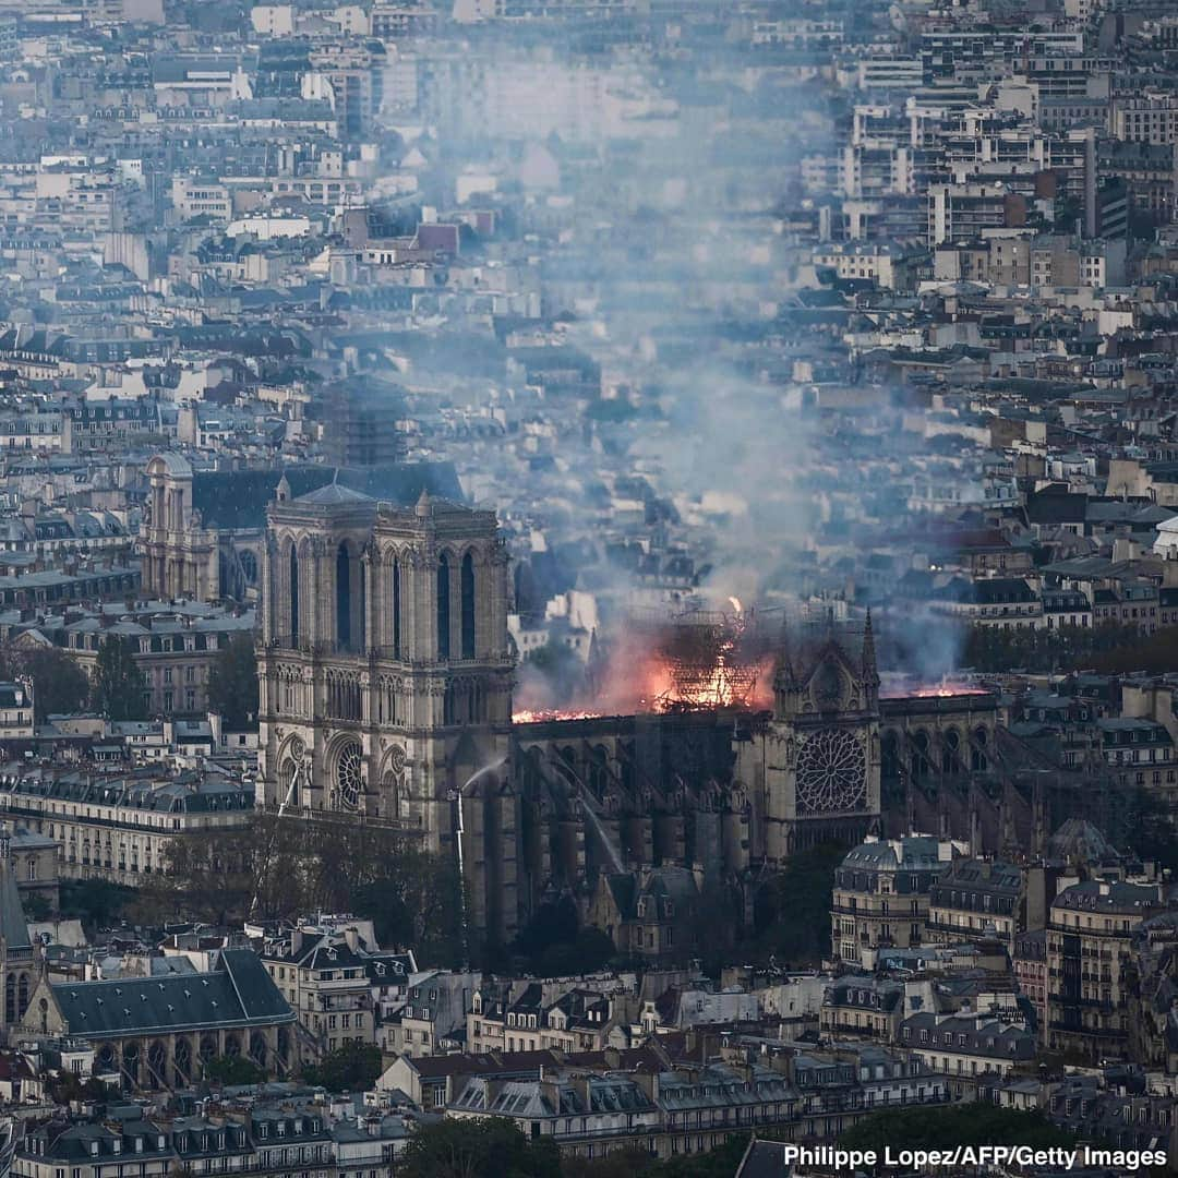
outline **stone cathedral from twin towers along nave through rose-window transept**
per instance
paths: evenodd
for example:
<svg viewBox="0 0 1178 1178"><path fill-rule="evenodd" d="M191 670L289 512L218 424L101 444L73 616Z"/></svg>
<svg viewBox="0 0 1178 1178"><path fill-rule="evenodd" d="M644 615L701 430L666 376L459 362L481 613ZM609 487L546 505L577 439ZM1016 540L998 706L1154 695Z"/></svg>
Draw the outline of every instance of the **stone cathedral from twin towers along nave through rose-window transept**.
<svg viewBox="0 0 1178 1178"><path fill-rule="evenodd" d="M262 551L258 801L396 825L454 854L471 931L674 869L740 889L880 814L869 623L783 630L772 712L512 723L508 555L495 515L283 478ZM702 885L701 885L702 887Z"/></svg>

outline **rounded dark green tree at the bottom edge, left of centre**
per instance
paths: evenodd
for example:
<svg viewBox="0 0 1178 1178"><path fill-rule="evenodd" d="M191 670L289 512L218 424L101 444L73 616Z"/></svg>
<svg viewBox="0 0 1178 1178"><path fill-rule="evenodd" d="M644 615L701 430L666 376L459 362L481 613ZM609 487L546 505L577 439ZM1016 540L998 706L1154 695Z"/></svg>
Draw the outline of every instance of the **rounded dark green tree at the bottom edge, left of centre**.
<svg viewBox="0 0 1178 1178"><path fill-rule="evenodd" d="M422 1125L402 1154L401 1178L560 1178L551 1137L529 1141L503 1117Z"/></svg>

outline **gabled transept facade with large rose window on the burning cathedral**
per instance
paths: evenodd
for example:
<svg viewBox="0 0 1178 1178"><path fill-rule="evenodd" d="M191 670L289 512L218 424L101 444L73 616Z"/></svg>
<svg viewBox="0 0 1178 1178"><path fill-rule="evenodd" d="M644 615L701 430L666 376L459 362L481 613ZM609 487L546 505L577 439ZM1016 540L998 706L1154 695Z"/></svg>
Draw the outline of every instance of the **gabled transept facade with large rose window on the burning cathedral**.
<svg viewBox="0 0 1178 1178"><path fill-rule="evenodd" d="M871 614L861 629L787 627L765 746L766 858L859 842L879 821L879 674Z"/></svg>

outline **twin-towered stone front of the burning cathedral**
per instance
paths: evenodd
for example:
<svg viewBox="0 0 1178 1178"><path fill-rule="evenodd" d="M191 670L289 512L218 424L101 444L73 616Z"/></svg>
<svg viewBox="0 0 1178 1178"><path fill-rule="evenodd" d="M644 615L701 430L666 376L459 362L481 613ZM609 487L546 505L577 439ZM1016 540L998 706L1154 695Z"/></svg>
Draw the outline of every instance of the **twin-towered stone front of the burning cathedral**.
<svg viewBox="0 0 1178 1178"><path fill-rule="evenodd" d="M471 922L497 935L515 927L516 800L481 770L509 744L507 576L494 512L424 491L397 505L331 483L269 509L259 805L443 853L464 830Z"/></svg>

